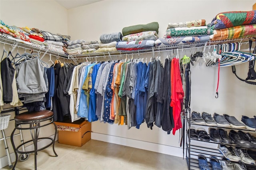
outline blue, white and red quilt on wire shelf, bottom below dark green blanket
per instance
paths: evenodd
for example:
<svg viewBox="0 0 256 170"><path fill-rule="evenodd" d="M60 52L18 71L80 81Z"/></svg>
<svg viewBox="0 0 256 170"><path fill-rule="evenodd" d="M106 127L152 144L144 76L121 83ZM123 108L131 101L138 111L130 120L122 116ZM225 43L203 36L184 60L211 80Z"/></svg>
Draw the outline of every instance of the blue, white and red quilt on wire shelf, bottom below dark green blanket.
<svg viewBox="0 0 256 170"><path fill-rule="evenodd" d="M116 49L124 50L124 51L132 51L139 49L146 49L154 47L154 40L140 40L140 41L132 41L132 42L117 42Z"/></svg>

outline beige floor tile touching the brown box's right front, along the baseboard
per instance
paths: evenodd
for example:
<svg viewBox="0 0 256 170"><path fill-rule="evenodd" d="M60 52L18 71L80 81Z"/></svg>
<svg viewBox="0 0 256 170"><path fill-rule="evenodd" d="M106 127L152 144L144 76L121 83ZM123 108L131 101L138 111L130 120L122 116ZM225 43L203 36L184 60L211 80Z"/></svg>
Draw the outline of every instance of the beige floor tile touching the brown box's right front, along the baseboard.
<svg viewBox="0 0 256 170"><path fill-rule="evenodd" d="M76 147L75 150L92 154L100 154L108 145L108 142L102 142L100 140L89 140L83 146Z"/></svg>

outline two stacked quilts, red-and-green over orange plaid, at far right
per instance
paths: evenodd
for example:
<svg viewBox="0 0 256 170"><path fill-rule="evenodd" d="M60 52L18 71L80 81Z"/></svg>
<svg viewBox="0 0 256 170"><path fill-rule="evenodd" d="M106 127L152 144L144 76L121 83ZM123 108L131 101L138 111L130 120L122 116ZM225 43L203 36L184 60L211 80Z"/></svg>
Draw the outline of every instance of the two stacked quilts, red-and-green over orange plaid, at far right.
<svg viewBox="0 0 256 170"><path fill-rule="evenodd" d="M212 41L256 36L256 11L222 12L208 24L214 32Z"/></svg>

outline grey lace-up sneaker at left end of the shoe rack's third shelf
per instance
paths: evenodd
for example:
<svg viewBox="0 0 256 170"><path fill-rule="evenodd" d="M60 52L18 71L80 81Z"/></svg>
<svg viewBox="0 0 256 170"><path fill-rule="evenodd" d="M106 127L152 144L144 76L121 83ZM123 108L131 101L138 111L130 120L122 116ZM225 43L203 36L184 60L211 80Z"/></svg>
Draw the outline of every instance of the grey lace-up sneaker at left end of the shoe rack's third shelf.
<svg viewBox="0 0 256 170"><path fill-rule="evenodd" d="M235 161L235 162L240 162L241 161L241 158L234 152L234 149L232 148L232 146L225 146L225 145L222 145L220 144L218 146L219 148L219 152L221 154L223 154L223 156L227 159L227 160L232 160L232 161Z"/></svg>

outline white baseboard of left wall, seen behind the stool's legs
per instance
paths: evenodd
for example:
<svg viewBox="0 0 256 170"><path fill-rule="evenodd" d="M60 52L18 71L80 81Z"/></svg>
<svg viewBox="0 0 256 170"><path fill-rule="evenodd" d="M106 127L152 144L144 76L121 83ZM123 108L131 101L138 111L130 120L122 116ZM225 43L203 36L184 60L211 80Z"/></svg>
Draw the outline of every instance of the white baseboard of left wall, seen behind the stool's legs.
<svg viewBox="0 0 256 170"><path fill-rule="evenodd" d="M54 134L52 136L49 136L50 138L54 138ZM58 140L58 133L56 135L56 141ZM48 141L48 142L47 142ZM49 140L40 140L38 141L38 148L44 147L49 143ZM8 146L9 148L12 148L12 146ZM9 149L10 150L10 149ZM25 147L25 150L34 150L34 145L29 145ZM15 162L15 154L14 152L10 153L10 157L12 162ZM14 163L13 163L14 164ZM8 157L4 156L0 158L0 168L4 168L8 165Z"/></svg>

